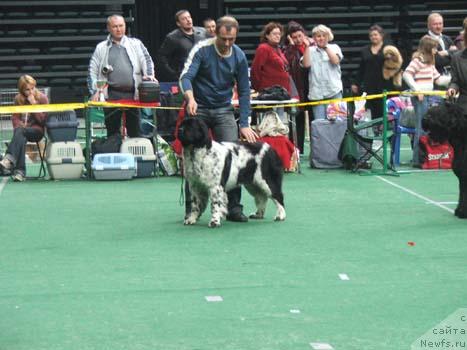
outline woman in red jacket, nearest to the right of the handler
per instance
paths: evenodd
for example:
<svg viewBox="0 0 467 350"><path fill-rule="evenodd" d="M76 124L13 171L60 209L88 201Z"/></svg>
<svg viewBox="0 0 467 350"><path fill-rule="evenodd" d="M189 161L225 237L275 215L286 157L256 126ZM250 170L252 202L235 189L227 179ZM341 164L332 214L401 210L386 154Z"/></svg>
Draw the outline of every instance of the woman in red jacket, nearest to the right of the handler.
<svg viewBox="0 0 467 350"><path fill-rule="evenodd" d="M261 31L261 44L256 49L250 71L252 87L258 92L280 85L292 96L289 62L279 47L283 33L282 25L276 22L269 22Z"/></svg>

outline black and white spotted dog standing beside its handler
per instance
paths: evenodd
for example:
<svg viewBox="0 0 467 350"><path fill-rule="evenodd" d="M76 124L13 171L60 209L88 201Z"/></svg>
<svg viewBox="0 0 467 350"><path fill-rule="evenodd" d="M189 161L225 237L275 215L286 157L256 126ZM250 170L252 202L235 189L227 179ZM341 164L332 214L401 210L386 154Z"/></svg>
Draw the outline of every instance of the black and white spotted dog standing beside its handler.
<svg viewBox="0 0 467 350"><path fill-rule="evenodd" d="M268 198L277 207L274 220L285 220L282 194L282 162L266 143L212 141L200 118L185 118L178 131L183 145L184 177L191 190L191 213L185 225L193 225L211 201L209 227L221 225L227 215L227 192L244 185L255 198L256 213L263 219Z"/></svg>

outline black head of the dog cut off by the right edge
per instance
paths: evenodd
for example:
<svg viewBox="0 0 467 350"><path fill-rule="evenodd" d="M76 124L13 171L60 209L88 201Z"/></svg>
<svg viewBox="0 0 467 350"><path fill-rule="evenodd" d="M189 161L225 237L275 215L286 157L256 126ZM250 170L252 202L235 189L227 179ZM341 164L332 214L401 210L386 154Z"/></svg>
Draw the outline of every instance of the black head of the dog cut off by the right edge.
<svg viewBox="0 0 467 350"><path fill-rule="evenodd" d="M464 137L467 119L462 109L453 103L442 103L428 109L422 120L423 130L436 142Z"/></svg>

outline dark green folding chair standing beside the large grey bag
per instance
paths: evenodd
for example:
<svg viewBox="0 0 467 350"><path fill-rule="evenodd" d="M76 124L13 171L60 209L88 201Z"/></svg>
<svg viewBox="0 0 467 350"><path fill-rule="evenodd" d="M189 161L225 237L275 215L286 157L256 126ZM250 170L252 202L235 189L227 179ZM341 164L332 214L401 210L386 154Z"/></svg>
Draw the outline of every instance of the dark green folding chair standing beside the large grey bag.
<svg viewBox="0 0 467 350"><path fill-rule="evenodd" d="M383 170L388 167L392 171L396 171L392 164L388 164L386 155L381 156L379 153L384 145L390 145L393 131L388 130L381 134L375 134L375 130L379 130L386 118L376 118L368 122L354 123L353 104L347 103L347 131L342 141L340 156L344 167L352 171L367 168L367 160L374 158L382 166ZM374 141L379 141L381 144L374 148Z"/></svg>

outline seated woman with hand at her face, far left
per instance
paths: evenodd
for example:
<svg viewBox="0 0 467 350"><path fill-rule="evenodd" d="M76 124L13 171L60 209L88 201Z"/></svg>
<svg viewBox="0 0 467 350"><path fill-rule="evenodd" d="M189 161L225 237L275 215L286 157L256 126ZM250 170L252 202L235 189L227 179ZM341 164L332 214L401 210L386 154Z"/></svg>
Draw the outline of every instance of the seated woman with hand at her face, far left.
<svg viewBox="0 0 467 350"><path fill-rule="evenodd" d="M49 103L47 96L36 89L36 80L23 75L18 80L19 93L15 96L15 105L36 105ZM0 161L0 174L12 175L14 181L26 178L26 143L38 142L44 136L46 113L15 113L13 138L5 157Z"/></svg>

